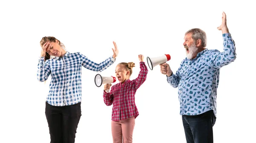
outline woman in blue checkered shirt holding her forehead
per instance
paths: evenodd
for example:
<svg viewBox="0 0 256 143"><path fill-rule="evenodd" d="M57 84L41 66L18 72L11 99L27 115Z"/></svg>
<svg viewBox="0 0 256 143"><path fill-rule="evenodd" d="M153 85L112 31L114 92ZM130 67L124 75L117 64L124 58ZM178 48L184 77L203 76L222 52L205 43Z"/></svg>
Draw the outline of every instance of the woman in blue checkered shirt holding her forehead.
<svg viewBox="0 0 256 143"><path fill-rule="evenodd" d="M41 82L50 74L52 77L45 107L51 143L75 142L81 117L81 66L95 72L111 66L118 54L116 43L113 44L113 56L94 63L79 52L69 53L55 37L42 38L37 77Z"/></svg>

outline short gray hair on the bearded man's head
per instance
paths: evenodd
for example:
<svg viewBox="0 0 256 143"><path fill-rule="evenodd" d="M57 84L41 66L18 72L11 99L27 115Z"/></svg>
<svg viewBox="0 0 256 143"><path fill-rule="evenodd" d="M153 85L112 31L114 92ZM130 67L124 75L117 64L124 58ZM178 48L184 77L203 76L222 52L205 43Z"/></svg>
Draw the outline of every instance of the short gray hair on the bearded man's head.
<svg viewBox="0 0 256 143"><path fill-rule="evenodd" d="M189 31L187 31L185 33L186 34L189 34L189 33L192 33L192 39L193 40L198 40L198 39L201 39L201 45L203 47L206 47L206 44L207 44L207 37L206 37L206 33L201 30L201 29L198 29L198 28L195 28L195 29L190 29Z"/></svg>

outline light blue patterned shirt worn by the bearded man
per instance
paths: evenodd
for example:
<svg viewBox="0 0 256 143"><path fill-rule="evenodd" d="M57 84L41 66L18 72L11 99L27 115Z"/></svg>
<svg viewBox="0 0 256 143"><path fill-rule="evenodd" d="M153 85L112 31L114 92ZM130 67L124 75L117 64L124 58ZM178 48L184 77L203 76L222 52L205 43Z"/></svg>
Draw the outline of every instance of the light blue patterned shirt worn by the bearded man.
<svg viewBox="0 0 256 143"><path fill-rule="evenodd" d="M185 58L176 74L167 77L168 83L178 87L180 115L197 115L213 110L220 68L236 59L236 47L231 34L222 34L224 51L204 49L193 60Z"/></svg>

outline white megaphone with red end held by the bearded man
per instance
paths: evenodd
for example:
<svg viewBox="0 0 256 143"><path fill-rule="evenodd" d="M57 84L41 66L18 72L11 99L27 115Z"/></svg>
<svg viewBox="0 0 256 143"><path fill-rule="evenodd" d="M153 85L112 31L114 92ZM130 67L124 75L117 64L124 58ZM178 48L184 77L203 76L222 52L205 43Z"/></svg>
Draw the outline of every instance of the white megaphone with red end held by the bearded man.
<svg viewBox="0 0 256 143"><path fill-rule="evenodd" d="M165 63L168 60L171 60L171 56L169 54L165 54L164 56L160 57L147 57L148 67L149 69L153 70L154 66L157 66L161 63Z"/></svg>

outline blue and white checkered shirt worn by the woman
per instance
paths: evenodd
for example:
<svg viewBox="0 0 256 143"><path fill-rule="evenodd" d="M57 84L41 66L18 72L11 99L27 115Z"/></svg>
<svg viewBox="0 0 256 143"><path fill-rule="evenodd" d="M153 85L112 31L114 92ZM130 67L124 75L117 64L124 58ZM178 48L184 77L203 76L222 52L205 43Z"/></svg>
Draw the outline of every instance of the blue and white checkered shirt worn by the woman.
<svg viewBox="0 0 256 143"><path fill-rule="evenodd" d="M44 62L40 57L37 78L45 81L51 74L47 103L52 106L67 106L81 102L81 66L101 72L114 63L111 56L102 63L94 63L86 56L68 51L63 57L55 57Z"/></svg>

